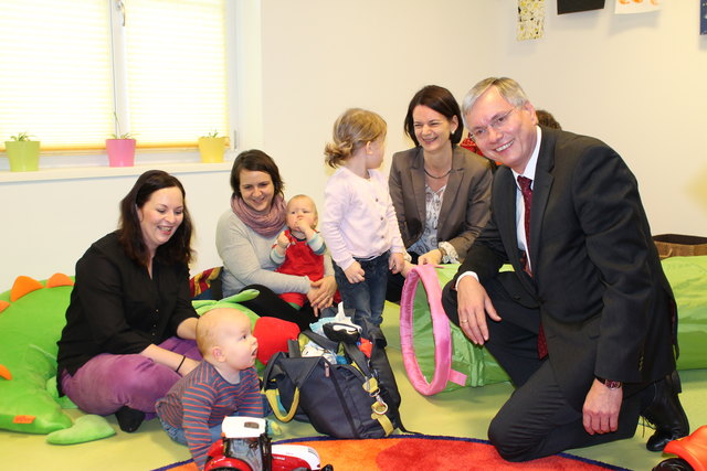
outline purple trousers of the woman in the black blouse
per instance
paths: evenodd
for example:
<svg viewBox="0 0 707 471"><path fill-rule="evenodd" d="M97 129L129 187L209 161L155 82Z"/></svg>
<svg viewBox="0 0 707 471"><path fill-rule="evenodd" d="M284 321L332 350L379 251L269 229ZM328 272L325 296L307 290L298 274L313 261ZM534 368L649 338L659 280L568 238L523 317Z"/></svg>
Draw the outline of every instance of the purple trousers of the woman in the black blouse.
<svg viewBox="0 0 707 471"><path fill-rule="evenodd" d="M176 336L159 344L190 358L201 361L193 340ZM181 376L172 368L139 355L94 356L72 376L65 370L61 382L64 394L88 414L107 416L123 406L141 410L146 418L155 417L155 403L165 396Z"/></svg>

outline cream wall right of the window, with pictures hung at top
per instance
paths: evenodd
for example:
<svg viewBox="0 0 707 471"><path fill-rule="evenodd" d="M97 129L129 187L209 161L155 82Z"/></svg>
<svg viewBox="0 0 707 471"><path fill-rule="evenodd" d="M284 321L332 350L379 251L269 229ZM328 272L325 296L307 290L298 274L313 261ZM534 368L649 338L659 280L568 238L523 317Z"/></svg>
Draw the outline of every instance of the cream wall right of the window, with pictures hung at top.
<svg viewBox="0 0 707 471"><path fill-rule="evenodd" d="M506 75L566 129L623 156L654 234L707 235L707 36L699 2L662 3L658 13L614 15L608 0L557 15L547 0L545 38L518 42L515 0L265 1L265 147L291 192L320 196L321 149L346 107L386 118L390 156L409 147L402 121L423 85L461 100L479 79Z"/></svg>

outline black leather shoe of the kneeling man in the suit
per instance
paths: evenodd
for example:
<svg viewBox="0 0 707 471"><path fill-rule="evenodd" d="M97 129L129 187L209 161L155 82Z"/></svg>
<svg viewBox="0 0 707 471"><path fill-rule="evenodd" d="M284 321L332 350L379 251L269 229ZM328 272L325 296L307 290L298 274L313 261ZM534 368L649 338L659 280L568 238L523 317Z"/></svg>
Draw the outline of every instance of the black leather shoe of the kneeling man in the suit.
<svg viewBox="0 0 707 471"><path fill-rule="evenodd" d="M643 410L642 416L655 426L655 433L645 443L650 451L663 451L668 441L689 435L687 415L677 395L683 389L677 371L657 381L653 388L653 400Z"/></svg>

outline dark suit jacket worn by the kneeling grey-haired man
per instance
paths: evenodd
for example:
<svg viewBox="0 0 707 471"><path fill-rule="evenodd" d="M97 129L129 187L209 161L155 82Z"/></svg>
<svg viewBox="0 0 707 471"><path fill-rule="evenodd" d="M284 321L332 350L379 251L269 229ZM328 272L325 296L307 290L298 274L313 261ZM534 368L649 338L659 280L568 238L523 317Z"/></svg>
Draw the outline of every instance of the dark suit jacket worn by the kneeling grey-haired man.
<svg viewBox="0 0 707 471"><path fill-rule="evenodd" d="M502 264L513 265L516 276L499 279L519 303L539 308L556 377L581 409L594 376L627 383L630 395L675 368L675 301L621 157L593 138L545 127L541 133L532 278L520 261L517 188L506 167L495 175L492 220L458 272L475 271L483 283Z"/></svg>

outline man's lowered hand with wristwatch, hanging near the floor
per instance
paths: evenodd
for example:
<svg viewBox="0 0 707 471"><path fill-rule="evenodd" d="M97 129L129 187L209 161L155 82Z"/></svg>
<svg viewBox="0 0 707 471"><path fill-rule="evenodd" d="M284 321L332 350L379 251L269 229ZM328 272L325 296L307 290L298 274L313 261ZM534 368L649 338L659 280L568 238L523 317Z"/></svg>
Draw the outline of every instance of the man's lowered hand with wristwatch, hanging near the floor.
<svg viewBox="0 0 707 471"><path fill-rule="evenodd" d="M587 433L609 433L619 428L619 410L623 388L610 389L594 379L582 407L582 424Z"/></svg>

